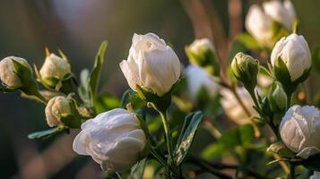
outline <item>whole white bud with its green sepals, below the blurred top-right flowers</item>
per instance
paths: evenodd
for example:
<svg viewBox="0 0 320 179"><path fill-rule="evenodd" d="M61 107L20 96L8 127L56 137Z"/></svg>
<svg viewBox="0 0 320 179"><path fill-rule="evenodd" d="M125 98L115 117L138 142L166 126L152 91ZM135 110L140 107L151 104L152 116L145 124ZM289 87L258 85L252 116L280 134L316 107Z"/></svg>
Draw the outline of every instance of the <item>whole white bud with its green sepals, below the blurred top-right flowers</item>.
<svg viewBox="0 0 320 179"><path fill-rule="evenodd" d="M271 63L274 74L284 87L305 81L311 69L311 55L303 36L292 33L273 47Z"/></svg>

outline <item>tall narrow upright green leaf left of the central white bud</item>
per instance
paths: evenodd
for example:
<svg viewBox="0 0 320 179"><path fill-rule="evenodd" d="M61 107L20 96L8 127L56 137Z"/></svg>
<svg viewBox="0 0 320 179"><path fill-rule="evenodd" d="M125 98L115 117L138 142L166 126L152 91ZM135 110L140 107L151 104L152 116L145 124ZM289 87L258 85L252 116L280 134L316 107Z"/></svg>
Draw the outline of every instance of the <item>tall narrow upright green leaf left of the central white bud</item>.
<svg viewBox="0 0 320 179"><path fill-rule="evenodd" d="M107 49L107 42L104 41L99 47L99 51L91 71L91 75L89 79L91 105L93 105L93 101L97 96L97 90L98 90L99 80L100 80L100 72L102 69L102 65L104 63L104 54L106 52L106 49Z"/></svg>

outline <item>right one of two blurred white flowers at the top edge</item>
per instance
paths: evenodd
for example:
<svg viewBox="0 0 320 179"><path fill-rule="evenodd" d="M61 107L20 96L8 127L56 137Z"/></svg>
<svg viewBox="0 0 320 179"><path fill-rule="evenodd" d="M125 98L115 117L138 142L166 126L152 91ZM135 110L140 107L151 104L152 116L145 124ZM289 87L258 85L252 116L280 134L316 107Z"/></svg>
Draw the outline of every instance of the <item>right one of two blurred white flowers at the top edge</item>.
<svg viewBox="0 0 320 179"><path fill-rule="evenodd" d="M289 0L281 1L272 0L264 2L264 13L269 15L273 21L283 24L288 30L292 29L296 20L296 13L292 3Z"/></svg>

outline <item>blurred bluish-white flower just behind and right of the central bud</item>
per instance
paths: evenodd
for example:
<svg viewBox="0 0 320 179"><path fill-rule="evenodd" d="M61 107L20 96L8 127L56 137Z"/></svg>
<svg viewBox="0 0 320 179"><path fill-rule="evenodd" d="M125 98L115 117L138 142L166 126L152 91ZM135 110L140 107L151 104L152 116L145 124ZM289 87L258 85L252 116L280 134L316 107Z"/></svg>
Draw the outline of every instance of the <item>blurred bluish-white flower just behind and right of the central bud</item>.
<svg viewBox="0 0 320 179"><path fill-rule="evenodd" d="M214 95L217 94L219 85L203 70L203 68L195 65L188 65L185 73L188 93L192 100L196 101L198 92L201 88L205 88L210 97L214 97Z"/></svg>

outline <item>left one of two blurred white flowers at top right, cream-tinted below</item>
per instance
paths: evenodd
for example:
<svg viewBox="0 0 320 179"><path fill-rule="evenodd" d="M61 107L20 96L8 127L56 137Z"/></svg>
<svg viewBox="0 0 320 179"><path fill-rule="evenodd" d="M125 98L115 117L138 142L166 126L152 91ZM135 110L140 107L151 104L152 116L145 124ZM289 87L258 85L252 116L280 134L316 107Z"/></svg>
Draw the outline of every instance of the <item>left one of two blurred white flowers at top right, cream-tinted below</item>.
<svg viewBox="0 0 320 179"><path fill-rule="evenodd" d="M272 47L272 19L256 4L246 14L246 30L264 47Z"/></svg>

